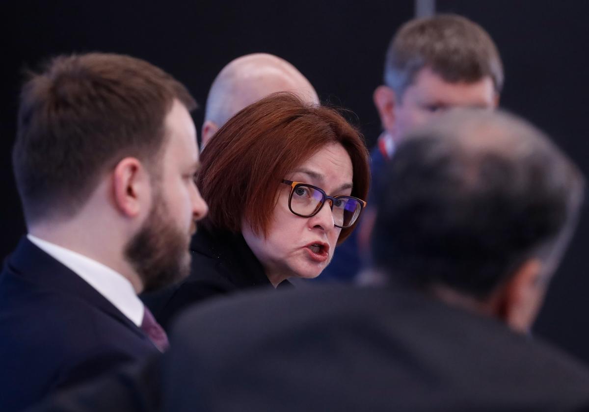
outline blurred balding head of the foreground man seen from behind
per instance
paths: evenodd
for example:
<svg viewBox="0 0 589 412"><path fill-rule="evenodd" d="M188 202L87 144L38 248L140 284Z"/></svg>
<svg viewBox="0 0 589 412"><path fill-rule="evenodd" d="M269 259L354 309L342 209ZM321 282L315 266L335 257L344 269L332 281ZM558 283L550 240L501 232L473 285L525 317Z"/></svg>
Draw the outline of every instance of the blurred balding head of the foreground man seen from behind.
<svg viewBox="0 0 589 412"><path fill-rule="evenodd" d="M375 264L449 303L530 327L573 231L583 178L547 137L463 109L416 128L380 188Z"/></svg>

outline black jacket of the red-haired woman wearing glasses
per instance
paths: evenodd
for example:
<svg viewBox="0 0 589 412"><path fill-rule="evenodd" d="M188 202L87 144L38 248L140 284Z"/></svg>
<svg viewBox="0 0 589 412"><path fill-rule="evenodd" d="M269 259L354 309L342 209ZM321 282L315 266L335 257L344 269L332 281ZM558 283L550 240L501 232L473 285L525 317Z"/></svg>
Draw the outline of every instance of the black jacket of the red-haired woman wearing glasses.
<svg viewBox="0 0 589 412"><path fill-rule="evenodd" d="M141 296L164 329L191 304L252 288L273 289L264 268L241 234L199 227L190 249L190 275L177 285ZM280 288L290 285L283 281Z"/></svg>

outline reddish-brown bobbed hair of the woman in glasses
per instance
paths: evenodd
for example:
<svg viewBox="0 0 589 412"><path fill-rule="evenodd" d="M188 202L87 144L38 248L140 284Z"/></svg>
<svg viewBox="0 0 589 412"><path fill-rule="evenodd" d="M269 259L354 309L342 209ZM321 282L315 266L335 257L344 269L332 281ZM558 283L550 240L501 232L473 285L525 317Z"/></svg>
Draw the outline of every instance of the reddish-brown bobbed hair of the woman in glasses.
<svg viewBox="0 0 589 412"><path fill-rule="evenodd" d="M370 172L362 135L335 109L279 92L229 119L204 148L197 186L209 204L203 223L241 231L243 218L267 234L281 181L325 145L340 143L353 168L352 195L365 199ZM342 229L342 242L352 228Z"/></svg>

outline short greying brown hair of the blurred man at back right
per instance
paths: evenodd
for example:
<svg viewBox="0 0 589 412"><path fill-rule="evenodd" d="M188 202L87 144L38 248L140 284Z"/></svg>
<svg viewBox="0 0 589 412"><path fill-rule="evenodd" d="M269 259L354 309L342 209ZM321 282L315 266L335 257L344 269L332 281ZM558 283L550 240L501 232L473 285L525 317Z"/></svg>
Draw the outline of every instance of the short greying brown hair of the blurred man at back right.
<svg viewBox="0 0 589 412"><path fill-rule="evenodd" d="M485 29L462 16L413 19L393 36L386 53L385 84L399 99L425 67L447 82L471 83L489 76L497 93L503 87L497 46Z"/></svg>

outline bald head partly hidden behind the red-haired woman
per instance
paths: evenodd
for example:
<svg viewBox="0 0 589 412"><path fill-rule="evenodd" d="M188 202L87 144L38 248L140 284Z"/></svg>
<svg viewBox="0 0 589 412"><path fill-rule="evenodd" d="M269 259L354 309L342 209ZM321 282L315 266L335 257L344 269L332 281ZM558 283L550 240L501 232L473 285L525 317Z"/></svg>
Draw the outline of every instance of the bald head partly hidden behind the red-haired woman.
<svg viewBox="0 0 589 412"><path fill-rule="evenodd" d="M290 91L319 104L309 81L292 64L266 53L248 54L227 64L215 78L207 98L202 145L244 107L274 92Z"/></svg>

